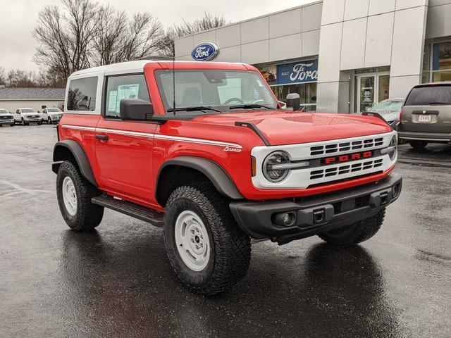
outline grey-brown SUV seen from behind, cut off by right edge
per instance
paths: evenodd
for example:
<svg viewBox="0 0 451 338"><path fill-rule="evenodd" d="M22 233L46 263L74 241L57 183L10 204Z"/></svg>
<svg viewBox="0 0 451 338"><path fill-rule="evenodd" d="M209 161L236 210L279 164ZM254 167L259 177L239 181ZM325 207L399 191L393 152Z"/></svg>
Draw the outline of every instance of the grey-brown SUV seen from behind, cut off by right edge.
<svg viewBox="0 0 451 338"><path fill-rule="evenodd" d="M400 113L399 136L415 149L451 142L451 82L412 88Z"/></svg>

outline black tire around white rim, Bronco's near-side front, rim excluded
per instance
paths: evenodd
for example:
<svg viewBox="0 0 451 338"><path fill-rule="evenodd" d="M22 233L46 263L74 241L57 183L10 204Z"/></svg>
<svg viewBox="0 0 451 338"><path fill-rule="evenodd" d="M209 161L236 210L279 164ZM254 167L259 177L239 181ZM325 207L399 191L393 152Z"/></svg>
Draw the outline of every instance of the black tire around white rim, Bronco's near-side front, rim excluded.
<svg viewBox="0 0 451 338"><path fill-rule="evenodd" d="M185 265L175 244L175 221L187 210L199 215L209 234L209 262L198 272ZM167 201L164 221L166 252L175 274L186 287L213 295L233 288L245 277L251 257L249 236L235 222L228 200L210 182L175 189Z"/></svg>

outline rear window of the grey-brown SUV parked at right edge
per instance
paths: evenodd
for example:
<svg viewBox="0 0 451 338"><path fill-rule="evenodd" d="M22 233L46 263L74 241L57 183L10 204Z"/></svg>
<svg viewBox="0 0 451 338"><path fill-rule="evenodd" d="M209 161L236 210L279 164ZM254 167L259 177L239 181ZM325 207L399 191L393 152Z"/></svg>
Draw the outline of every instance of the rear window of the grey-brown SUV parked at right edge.
<svg viewBox="0 0 451 338"><path fill-rule="evenodd" d="M451 105L451 86L415 87L406 100L406 106Z"/></svg>

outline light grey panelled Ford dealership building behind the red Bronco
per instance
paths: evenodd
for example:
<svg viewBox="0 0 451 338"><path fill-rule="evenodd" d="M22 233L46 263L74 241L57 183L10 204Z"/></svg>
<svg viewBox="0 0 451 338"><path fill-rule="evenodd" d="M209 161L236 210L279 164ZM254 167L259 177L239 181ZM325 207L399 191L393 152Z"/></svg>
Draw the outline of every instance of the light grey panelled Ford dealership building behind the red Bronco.
<svg viewBox="0 0 451 338"><path fill-rule="evenodd" d="M175 40L178 60L249 63L280 101L352 113L451 80L451 0L323 0ZM208 50L208 47L207 47Z"/></svg>

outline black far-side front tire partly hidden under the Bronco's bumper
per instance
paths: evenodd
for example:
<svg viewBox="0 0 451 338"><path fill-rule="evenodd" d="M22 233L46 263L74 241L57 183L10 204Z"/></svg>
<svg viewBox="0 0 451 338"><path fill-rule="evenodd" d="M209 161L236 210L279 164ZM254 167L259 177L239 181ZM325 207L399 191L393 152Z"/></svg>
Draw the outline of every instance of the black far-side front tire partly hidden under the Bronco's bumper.
<svg viewBox="0 0 451 338"><path fill-rule="evenodd" d="M355 245L373 237L381 229L383 219L385 218L385 208L369 218L360 220L347 227L341 227L337 230L319 234L323 241L329 244Z"/></svg>

